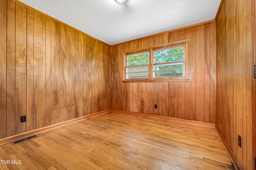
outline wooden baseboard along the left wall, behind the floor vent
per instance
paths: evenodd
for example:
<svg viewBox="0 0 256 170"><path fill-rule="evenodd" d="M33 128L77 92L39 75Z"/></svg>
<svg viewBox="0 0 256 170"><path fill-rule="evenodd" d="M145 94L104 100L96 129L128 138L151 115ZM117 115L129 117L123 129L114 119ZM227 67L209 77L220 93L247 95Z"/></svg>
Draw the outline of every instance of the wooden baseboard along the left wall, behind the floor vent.
<svg viewBox="0 0 256 170"><path fill-rule="evenodd" d="M62 126L65 126L65 125L68 125L68 124L71 124L71 123L82 121L84 119L88 119L89 117L100 115L102 113L107 113L109 111L110 111L110 109L107 109L107 110L104 110L104 111L99 111L97 113L92 113L90 115L85 115L85 116L78 117L78 118L75 118L75 119L71 119L71 120L68 120L68 121L64 121L64 122L61 122L61 123L56 123L54 125L42 127L40 129L35 129L33 131L21 133L21 134L14 135L14 136L11 136L11 137L6 137L6 138L3 138L3 139L0 139L0 145L4 145L6 143L10 143L10 142L16 141L18 139L21 139L21 138L24 138L24 137L28 137L28 136L31 136L31 135L35 135L35 134L38 134L38 133L42 133L42 132L45 132L45 131L56 129L58 127L62 127Z"/></svg>

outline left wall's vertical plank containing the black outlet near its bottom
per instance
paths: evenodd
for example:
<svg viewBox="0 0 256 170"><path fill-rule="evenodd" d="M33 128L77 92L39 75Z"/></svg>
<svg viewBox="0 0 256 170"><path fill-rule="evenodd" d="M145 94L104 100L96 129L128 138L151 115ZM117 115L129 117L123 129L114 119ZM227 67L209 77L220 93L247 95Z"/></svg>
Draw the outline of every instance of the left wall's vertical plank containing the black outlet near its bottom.
<svg viewBox="0 0 256 170"><path fill-rule="evenodd" d="M20 123L20 116L26 115L26 14L27 9L16 3L15 134L26 132L26 122ZM3 75L5 75L4 72Z"/></svg>

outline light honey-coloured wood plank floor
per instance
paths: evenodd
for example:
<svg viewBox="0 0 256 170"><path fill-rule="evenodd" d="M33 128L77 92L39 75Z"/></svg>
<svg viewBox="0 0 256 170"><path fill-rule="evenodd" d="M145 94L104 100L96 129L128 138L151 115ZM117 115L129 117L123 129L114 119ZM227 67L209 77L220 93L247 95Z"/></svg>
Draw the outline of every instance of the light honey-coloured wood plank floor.
<svg viewBox="0 0 256 170"><path fill-rule="evenodd" d="M108 112L38 135L0 146L0 169L234 169L213 127Z"/></svg>

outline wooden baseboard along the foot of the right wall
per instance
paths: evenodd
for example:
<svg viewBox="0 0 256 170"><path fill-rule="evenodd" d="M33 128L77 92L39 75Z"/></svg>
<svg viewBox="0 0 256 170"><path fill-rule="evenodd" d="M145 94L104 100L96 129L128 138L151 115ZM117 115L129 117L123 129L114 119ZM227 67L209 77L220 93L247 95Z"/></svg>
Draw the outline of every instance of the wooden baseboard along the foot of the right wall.
<svg viewBox="0 0 256 170"><path fill-rule="evenodd" d="M243 167L241 166L241 164L238 162L235 154L232 152L231 148L229 147L226 139L224 138L223 134L221 133L220 129L218 128L217 125L215 125L215 129L216 132L218 133L218 135L220 136L220 139L226 149L226 151L228 152L228 156L230 157L231 161L234 163L235 167L237 170L243 170Z"/></svg>

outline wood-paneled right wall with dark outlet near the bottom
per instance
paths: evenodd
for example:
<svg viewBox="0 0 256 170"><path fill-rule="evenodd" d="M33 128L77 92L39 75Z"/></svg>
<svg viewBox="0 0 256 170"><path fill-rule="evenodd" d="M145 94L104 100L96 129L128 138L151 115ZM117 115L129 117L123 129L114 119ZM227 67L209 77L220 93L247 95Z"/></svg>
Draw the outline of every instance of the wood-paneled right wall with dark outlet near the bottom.
<svg viewBox="0 0 256 170"><path fill-rule="evenodd" d="M253 169L251 2L224 0L216 21L216 124L244 170Z"/></svg>

